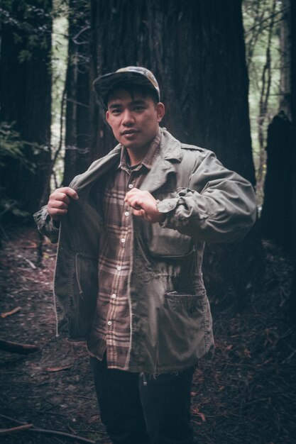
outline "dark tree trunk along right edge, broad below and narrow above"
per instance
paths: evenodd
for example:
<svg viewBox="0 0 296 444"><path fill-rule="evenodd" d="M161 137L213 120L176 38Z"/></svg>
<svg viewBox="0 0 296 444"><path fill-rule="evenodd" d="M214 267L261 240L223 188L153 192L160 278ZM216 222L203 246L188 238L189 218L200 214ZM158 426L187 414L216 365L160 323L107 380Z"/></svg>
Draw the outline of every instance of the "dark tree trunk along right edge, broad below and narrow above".
<svg viewBox="0 0 296 444"><path fill-rule="evenodd" d="M280 22L280 104L268 126L267 172L261 213L263 237L292 247L292 123L291 123L291 11L282 2Z"/></svg>

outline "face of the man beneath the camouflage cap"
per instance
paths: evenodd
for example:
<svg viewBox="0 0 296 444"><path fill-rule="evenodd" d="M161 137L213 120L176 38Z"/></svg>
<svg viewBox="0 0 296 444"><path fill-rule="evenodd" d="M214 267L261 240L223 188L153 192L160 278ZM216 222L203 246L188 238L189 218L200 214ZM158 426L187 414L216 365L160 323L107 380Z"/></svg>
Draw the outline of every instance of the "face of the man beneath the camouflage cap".
<svg viewBox="0 0 296 444"><path fill-rule="evenodd" d="M155 105L152 98L125 89L115 90L108 101L106 120L116 140L128 150L143 149L158 133L158 123L165 113L162 103Z"/></svg>

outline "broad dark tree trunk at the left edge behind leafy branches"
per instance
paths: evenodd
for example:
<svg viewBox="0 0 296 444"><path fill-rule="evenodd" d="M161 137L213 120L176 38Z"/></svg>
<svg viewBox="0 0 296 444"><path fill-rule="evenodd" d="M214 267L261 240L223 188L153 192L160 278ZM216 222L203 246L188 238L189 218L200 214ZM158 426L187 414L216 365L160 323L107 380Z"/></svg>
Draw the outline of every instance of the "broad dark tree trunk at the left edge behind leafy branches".
<svg viewBox="0 0 296 444"><path fill-rule="evenodd" d="M1 174L9 199L33 212L48 184L51 122L51 1L4 1L1 17L0 121L13 125L34 171L10 159Z"/></svg>

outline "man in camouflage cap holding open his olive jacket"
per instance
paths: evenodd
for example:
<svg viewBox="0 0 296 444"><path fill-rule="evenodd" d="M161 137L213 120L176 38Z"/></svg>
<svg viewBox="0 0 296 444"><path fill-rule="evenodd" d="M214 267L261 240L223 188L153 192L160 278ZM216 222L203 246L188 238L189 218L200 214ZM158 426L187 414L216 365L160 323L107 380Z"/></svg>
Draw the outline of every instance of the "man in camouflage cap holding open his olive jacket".
<svg viewBox="0 0 296 444"><path fill-rule="evenodd" d="M141 67L94 81L119 145L36 213L57 241L57 321L87 338L102 421L113 443L194 442L194 365L213 345L204 241L241 238L253 189L215 155L159 123L158 83Z"/></svg>

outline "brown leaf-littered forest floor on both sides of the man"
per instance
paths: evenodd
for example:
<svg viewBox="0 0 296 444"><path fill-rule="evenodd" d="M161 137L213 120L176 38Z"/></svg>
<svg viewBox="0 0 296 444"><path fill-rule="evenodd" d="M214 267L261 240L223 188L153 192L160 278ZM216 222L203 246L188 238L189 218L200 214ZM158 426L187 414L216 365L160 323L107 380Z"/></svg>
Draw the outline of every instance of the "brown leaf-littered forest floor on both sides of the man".
<svg viewBox="0 0 296 444"><path fill-rule="evenodd" d="M35 267L37 243L33 229L9 231L0 250L0 339L38 346L28 355L0 352L0 433L33 424L0 435L1 444L109 443L84 345L55 337L55 246L43 246L43 265ZM192 387L199 444L296 443L292 267L270 243L265 262L243 313L212 301L215 353L199 363Z"/></svg>

